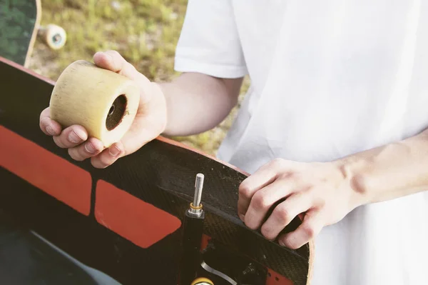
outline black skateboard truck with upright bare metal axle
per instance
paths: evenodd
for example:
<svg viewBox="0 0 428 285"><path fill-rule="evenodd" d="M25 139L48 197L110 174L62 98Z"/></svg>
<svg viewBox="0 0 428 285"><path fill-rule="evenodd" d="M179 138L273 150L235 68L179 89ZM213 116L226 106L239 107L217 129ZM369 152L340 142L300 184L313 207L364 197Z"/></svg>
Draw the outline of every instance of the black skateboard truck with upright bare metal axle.
<svg viewBox="0 0 428 285"><path fill-rule="evenodd" d="M183 222L183 257L178 285L261 285L266 272L247 259L228 254L229 249L209 241L201 251L203 237L203 174L197 174L193 202L185 211ZM210 265L207 264L210 263ZM214 269L212 266L220 270ZM225 271L224 271L225 270Z"/></svg>

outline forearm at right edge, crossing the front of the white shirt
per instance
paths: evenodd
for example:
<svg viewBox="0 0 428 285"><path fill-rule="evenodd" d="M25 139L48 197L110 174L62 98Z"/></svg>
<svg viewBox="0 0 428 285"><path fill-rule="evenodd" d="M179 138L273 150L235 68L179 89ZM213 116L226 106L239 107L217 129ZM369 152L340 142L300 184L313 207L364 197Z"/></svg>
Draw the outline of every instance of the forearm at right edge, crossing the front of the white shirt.
<svg viewBox="0 0 428 285"><path fill-rule="evenodd" d="M365 203L428 189L428 130L336 161Z"/></svg>

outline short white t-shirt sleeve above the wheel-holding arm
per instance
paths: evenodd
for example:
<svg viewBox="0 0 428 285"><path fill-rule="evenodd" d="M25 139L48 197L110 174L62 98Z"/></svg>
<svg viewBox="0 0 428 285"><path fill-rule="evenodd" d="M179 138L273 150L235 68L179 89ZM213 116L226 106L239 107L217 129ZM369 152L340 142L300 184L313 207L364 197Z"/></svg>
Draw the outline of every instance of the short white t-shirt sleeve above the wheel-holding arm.
<svg viewBox="0 0 428 285"><path fill-rule="evenodd" d="M220 78L247 74L230 0L188 1L174 69Z"/></svg>

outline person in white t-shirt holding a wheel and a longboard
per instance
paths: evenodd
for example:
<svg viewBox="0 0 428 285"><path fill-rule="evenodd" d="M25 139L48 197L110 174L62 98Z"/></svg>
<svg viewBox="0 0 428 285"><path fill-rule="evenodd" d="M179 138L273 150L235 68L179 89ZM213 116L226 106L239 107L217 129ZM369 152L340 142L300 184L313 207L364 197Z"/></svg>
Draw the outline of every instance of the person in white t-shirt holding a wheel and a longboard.
<svg viewBox="0 0 428 285"><path fill-rule="evenodd" d="M312 284L428 284L428 3L190 0L171 82L116 51L95 64L134 79L141 106L102 149L81 126L41 129L73 159L107 167L159 134L213 128L251 87L218 156L251 175L241 219L298 248L315 239ZM285 199L263 224L267 209Z"/></svg>

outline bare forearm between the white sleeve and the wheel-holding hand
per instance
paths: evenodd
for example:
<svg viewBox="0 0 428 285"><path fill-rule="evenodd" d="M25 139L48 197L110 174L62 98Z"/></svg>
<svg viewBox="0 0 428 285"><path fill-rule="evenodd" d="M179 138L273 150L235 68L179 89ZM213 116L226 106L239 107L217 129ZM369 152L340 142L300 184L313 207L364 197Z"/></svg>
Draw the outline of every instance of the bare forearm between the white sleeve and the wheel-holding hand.
<svg viewBox="0 0 428 285"><path fill-rule="evenodd" d="M163 134L187 136L220 124L237 104L242 80L187 73L159 84L168 110Z"/></svg>

